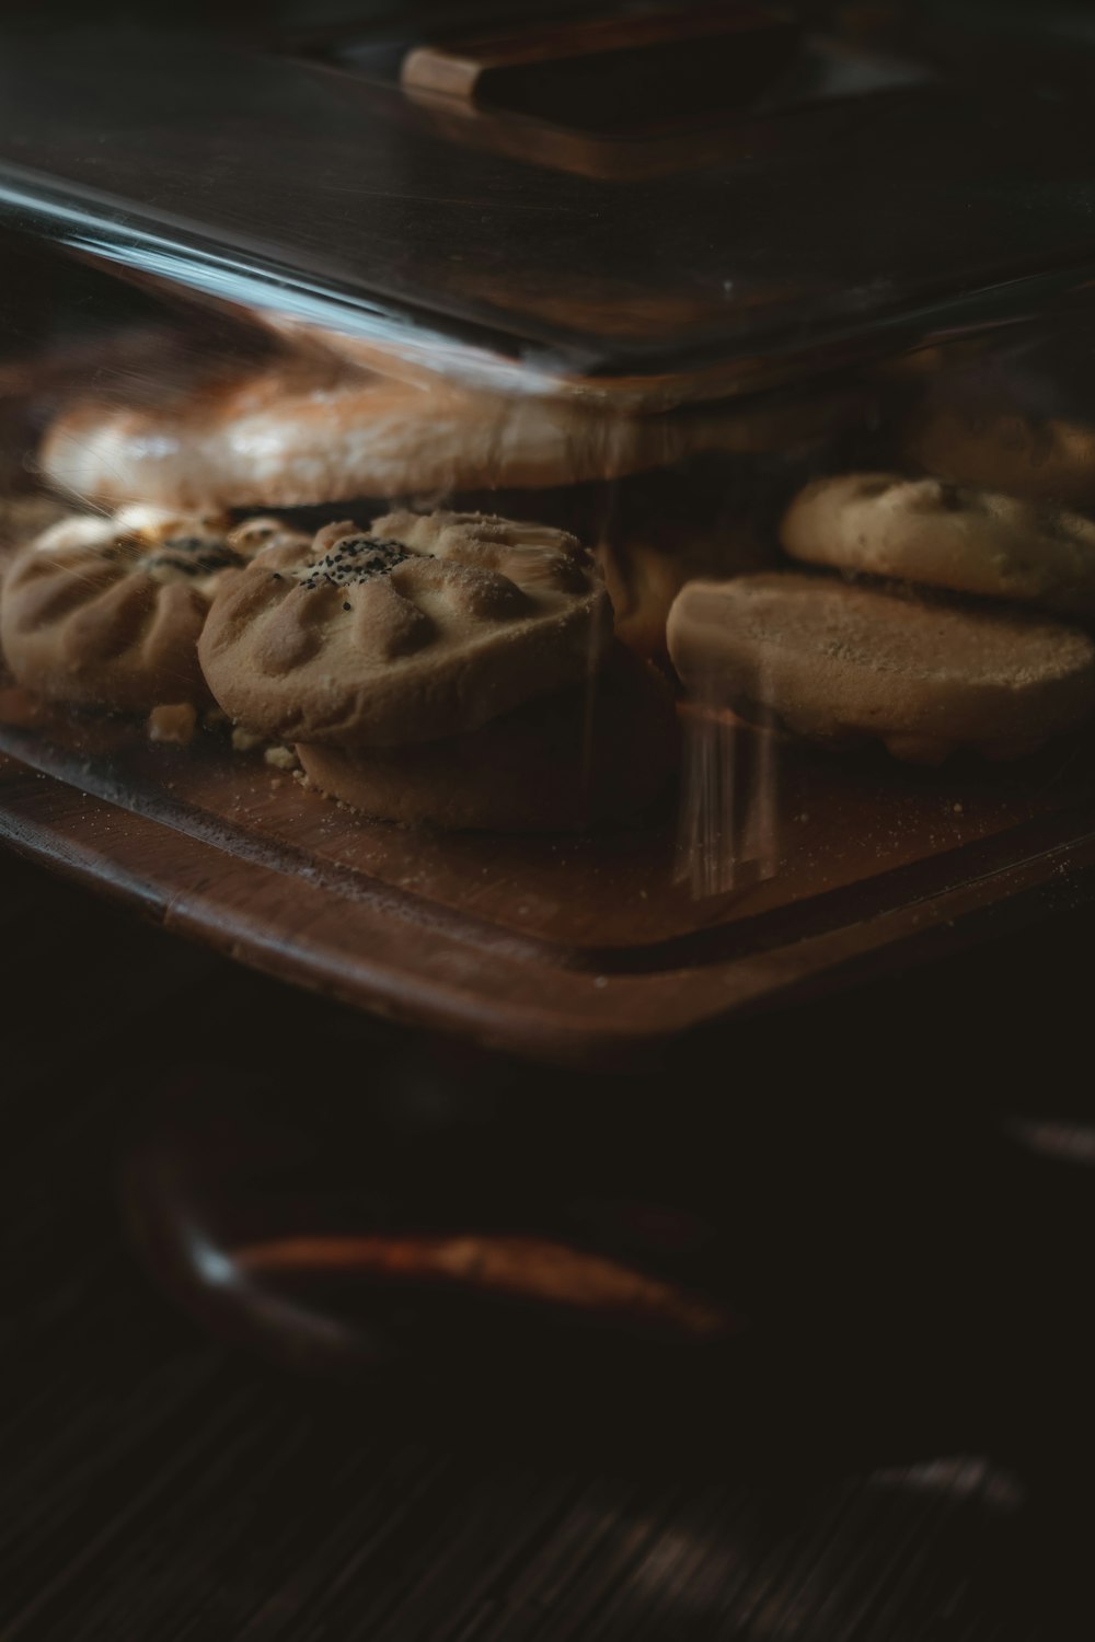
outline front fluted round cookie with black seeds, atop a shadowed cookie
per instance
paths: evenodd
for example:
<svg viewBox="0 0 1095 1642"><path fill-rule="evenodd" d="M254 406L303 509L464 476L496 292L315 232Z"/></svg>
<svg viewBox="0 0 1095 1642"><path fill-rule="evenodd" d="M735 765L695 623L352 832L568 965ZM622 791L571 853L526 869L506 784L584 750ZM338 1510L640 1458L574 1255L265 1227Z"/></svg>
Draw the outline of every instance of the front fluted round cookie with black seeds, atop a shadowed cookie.
<svg viewBox="0 0 1095 1642"><path fill-rule="evenodd" d="M220 706L281 741L343 747L478 729L581 680L611 629L565 530L486 514L325 525L227 578L200 658Z"/></svg>

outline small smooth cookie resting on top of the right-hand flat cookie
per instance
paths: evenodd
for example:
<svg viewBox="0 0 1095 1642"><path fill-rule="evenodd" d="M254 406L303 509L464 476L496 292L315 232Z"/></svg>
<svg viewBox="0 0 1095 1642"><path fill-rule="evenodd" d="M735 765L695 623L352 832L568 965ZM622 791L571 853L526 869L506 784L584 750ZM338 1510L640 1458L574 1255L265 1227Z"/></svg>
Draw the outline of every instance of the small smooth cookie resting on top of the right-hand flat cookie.
<svg viewBox="0 0 1095 1642"><path fill-rule="evenodd" d="M795 498L781 539L813 565L1095 614L1095 522L996 491L845 473Z"/></svg>

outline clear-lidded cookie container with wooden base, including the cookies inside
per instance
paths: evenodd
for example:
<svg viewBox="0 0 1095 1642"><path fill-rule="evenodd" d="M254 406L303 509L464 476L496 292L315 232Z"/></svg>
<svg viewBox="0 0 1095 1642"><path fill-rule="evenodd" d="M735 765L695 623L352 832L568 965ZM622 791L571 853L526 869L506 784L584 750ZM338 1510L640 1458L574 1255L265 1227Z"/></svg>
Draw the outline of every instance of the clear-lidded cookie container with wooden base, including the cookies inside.
<svg viewBox="0 0 1095 1642"><path fill-rule="evenodd" d="M11 46L10 836L586 1059L1079 893L1082 46L824 11Z"/></svg>

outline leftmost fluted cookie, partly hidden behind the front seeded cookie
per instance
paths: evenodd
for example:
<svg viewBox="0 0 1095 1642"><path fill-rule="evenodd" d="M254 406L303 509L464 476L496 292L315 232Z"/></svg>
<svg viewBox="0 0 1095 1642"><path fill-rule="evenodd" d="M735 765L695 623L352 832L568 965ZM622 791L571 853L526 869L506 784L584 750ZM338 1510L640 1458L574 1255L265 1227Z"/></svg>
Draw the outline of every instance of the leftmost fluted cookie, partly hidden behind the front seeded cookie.
<svg viewBox="0 0 1095 1642"><path fill-rule="evenodd" d="M197 640L213 591L276 521L233 530L215 516L148 506L71 516L11 562L0 644L18 683L51 701L146 713L205 703Z"/></svg>

